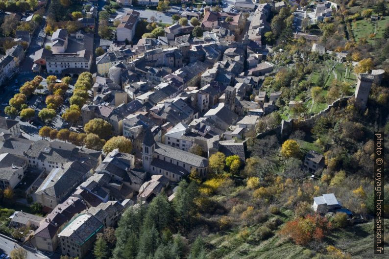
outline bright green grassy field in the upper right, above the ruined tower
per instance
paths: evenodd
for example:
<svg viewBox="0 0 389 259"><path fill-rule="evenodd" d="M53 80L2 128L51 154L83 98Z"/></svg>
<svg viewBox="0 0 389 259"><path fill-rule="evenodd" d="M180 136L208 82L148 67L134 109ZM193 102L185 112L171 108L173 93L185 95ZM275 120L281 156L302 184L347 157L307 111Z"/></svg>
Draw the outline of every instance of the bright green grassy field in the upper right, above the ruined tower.
<svg viewBox="0 0 389 259"><path fill-rule="evenodd" d="M377 21L376 25L369 20L359 20L351 23L355 40L366 38L367 41L373 42L374 39L381 39L384 36L384 30L389 23L389 16L383 16ZM375 37L369 39L371 33L376 33Z"/></svg>

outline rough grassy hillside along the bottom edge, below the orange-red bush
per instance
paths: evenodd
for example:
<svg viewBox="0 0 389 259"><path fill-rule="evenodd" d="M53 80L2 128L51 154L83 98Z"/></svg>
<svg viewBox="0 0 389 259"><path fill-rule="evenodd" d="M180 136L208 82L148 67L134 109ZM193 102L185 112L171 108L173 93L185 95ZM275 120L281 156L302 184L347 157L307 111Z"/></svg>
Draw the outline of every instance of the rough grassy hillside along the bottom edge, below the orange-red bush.
<svg viewBox="0 0 389 259"><path fill-rule="evenodd" d="M252 235L257 227L252 226L247 231ZM213 250L207 258L213 259L327 258L327 255L319 251L295 245L288 240L281 239L278 235L259 242L252 242L250 236L243 240L235 231L209 235L206 241L209 248ZM351 254L353 259L379 258L373 255L373 241L373 223L370 221L341 230L333 230L324 239L324 248L327 245L334 245Z"/></svg>

